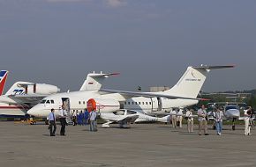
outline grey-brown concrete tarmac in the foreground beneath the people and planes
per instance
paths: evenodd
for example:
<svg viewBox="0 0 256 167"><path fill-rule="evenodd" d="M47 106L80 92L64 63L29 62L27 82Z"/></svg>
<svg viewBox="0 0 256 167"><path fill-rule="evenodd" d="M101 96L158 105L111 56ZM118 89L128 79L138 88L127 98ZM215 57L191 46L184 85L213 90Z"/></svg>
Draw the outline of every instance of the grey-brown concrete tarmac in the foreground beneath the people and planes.
<svg viewBox="0 0 256 167"><path fill-rule="evenodd" d="M0 121L0 165L9 167L109 166L253 166L256 165L256 130L244 127L222 135L188 134L165 124L134 124L131 128L68 126L66 136L49 136L48 126ZM254 135L253 135L254 134Z"/></svg>

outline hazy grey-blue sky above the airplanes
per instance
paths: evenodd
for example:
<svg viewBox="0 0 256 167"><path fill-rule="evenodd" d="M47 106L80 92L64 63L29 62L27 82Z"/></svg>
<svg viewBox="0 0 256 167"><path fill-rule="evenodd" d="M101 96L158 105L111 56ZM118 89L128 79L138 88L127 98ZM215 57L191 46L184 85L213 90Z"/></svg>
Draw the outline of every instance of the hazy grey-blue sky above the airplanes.
<svg viewBox="0 0 256 167"><path fill-rule="evenodd" d="M119 72L104 88L172 86L188 66L203 91L256 88L254 0L0 0L0 69L14 82L78 91L87 73Z"/></svg>

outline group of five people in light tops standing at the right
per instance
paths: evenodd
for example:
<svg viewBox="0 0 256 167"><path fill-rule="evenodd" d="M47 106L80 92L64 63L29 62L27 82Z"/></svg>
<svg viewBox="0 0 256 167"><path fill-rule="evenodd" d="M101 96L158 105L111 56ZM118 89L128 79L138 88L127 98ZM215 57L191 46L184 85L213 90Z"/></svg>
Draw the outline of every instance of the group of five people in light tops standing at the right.
<svg viewBox="0 0 256 167"><path fill-rule="evenodd" d="M214 127L216 130L216 134L221 135L222 134L222 122L224 119L224 113L223 113L222 107L215 107L214 110L211 112L212 116L214 117ZM193 114L194 111L192 109L186 109L184 110L185 114L183 113L182 109L174 109L170 112L170 124L171 127L177 128L182 127L182 120L184 115L184 120L186 120L187 123L187 132L192 133L193 132L193 126L194 126L194 119L198 119L199 122L199 135L208 135L207 133L207 110L205 105L201 105L200 109L197 111L197 113ZM252 135L251 134L251 127L252 127L252 107L249 106L247 110L245 110L244 114L245 119L245 135Z"/></svg>

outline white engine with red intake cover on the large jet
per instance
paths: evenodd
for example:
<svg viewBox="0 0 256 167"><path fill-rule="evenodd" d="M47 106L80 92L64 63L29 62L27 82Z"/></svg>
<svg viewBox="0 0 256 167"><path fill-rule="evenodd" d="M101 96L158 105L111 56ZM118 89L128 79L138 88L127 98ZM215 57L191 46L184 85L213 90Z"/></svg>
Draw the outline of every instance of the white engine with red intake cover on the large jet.
<svg viewBox="0 0 256 167"><path fill-rule="evenodd" d="M112 113L120 110L120 103L115 99L109 98L90 98L87 101L87 110L96 110L100 113Z"/></svg>

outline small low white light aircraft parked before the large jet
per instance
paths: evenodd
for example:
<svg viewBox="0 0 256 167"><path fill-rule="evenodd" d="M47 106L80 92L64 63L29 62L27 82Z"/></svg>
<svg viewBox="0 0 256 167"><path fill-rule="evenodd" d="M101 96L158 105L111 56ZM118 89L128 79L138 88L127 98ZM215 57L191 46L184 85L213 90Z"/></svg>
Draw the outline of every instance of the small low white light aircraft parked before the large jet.
<svg viewBox="0 0 256 167"><path fill-rule="evenodd" d="M102 120L107 121L102 127L110 127L109 124L117 122L119 127L130 127L131 123L138 122L169 122L169 115L164 117L153 117L146 113L140 113L132 110L120 110L114 113L101 113Z"/></svg>

